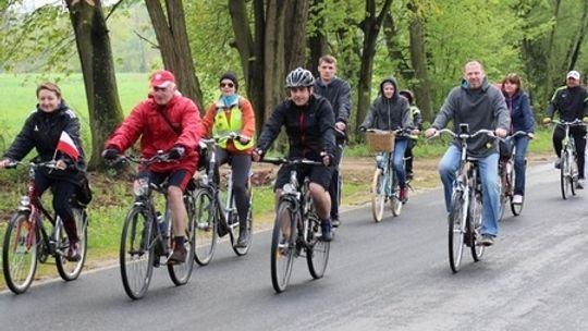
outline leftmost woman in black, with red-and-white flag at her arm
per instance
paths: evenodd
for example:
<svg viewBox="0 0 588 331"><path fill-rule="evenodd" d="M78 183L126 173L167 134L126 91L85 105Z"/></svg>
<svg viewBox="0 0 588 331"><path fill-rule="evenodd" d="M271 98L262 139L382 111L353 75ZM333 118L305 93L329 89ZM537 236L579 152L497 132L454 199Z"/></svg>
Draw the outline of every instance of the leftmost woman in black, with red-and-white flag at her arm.
<svg viewBox="0 0 588 331"><path fill-rule="evenodd" d="M78 261L79 238L71 198L86 180L86 161L79 139L79 120L61 98L58 85L47 82L37 87L37 107L28 115L0 161L0 169L22 160L33 148L41 162L56 160L56 169L40 168L35 173L35 187L40 198L47 188L53 193L53 210L63 220L70 240L66 258Z"/></svg>

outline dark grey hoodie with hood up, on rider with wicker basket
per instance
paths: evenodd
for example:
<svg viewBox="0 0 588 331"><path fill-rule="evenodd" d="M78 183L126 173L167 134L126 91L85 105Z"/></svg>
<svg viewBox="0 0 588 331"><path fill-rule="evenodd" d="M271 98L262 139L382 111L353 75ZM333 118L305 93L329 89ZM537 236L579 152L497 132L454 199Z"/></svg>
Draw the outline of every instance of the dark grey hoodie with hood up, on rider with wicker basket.
<svg viewBox="0 0 588 331"><path fill-rule="evenodd" d="M385 98L383 95L383 85L385 83L394 85L394 95L392 95L391 99ZM369 107L366 119L359 127L379 130L412 128L408 101L399 95L396 79L388 77L380 83L380 95Z"/></svg>

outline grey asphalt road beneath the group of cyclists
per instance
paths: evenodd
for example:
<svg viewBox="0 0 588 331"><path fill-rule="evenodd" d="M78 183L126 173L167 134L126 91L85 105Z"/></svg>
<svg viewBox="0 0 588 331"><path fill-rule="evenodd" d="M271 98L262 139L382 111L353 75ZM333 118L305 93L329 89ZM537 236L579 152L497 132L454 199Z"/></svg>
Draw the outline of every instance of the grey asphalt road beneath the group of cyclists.
<svg viewBox="0 0 588 331"><path fill-rule="evenodd" d="M526 205L501 222L480 262L453 274L440 191L411 197L373 223L343 214L326 275L294 263L286 292L270 280L270 232L245 257L220 245L175 287L156 269L147 296L124 293L118 267L77 281L0 293L1 330L588 330L588 192L562 200L550 164L528 171ZM367 193L366 193L367 194ZM89 253L91 254L91 252Z"/></svg>

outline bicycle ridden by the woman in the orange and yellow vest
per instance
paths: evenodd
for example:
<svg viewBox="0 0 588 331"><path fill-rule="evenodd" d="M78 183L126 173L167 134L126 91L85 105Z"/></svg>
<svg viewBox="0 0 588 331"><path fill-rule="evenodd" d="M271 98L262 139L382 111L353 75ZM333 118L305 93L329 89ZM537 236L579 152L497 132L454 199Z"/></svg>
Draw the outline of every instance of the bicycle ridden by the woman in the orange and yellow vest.
<svg viewBox="0 0 588 331"><path fill-rule="evenodd" d="M235 133L226 136L229 139L236 138ZM217 238L229 233L231 247L237 256L246 255L253 242L253 194L250 173L247 182L249 193L249 211L247 212L247 231L249 236L247 245L240 247L236 245L240 222L238 213L235 205L233 193L233 177L229 170L226 173L226 187L221 189L220 179L218 174L218 164L216 157L217 142L221 138L200 139L206 146L206 155L208 157L208 167L206 173L200 174L198 181L198 189L195 193L195 212L196 225L194 226L194 236L196 241L196 249L194 259L199 266L206 266L212 259L217 247ZM225 193L224 204L222 203L222 194Z"/></svg>

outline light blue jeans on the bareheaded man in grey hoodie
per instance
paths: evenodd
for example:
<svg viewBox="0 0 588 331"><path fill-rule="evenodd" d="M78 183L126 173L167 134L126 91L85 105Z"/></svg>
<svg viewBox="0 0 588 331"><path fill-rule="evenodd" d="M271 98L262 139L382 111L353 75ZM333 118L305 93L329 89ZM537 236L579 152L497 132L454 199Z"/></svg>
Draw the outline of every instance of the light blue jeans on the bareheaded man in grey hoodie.
<svg viewBox="0 0 588 331"><path fill-rule="evenodd" d="M439 174L445 193L445 208L451 208L451 196L455 172L460 168L461 149L451 145L439 162ZM498 175L499 154L494 152L478 160L482 186L482 234L497 236L500 218L500 179Z"/></svg>

